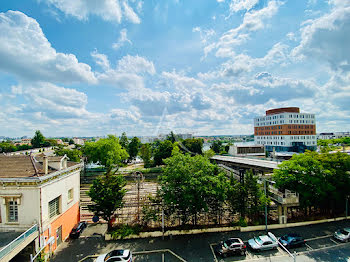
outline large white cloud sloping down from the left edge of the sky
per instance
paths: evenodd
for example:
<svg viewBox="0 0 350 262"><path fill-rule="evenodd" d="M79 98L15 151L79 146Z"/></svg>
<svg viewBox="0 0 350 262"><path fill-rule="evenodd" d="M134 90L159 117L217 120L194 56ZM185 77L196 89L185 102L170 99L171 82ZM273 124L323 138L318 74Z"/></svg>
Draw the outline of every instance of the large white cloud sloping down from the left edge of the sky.
<svg viewBox="0 0 350 262"><path fill-rule="evenodd" d="M0 70L32 81L95 83L89 65L73 54L57 53L33 18L0 13Z"/></svg>

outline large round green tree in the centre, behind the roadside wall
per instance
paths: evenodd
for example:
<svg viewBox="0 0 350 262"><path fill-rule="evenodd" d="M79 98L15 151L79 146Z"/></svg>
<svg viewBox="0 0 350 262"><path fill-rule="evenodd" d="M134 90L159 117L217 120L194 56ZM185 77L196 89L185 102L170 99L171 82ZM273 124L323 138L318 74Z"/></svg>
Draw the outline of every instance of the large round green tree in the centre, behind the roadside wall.
<svg viewBox="0 0 350 262"><path fill-rule="evenodd" d="M178 153L164 162L160 195L168 213L175 214L183 224L192 218L196 225L200 212L215 213L222 207L227 180L209 159Z"/></svg>

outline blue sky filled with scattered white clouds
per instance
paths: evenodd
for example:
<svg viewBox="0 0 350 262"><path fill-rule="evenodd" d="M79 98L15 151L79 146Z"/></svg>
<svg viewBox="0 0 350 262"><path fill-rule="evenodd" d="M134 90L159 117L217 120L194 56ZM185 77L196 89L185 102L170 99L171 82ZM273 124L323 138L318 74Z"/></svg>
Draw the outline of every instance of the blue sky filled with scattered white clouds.
<svg viewBox="0 0 350 262"><path fill-rule="evenodd" d="M0 136L350 130L350 0L2 0Z"/></svg>

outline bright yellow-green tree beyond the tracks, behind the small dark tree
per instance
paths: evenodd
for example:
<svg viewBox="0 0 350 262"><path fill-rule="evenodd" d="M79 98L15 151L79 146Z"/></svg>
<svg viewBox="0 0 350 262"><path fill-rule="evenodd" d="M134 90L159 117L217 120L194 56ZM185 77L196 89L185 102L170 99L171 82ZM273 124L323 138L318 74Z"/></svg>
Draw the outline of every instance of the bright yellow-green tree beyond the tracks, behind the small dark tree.
<svg viewBox="0 0 350 262"><path fill-rule="evenodd" d="M83 147L83 153L88 162L97 163L112 169L120 165L129 155L119 144L119 139L113 135L98 140L87 142Z"/></svg>

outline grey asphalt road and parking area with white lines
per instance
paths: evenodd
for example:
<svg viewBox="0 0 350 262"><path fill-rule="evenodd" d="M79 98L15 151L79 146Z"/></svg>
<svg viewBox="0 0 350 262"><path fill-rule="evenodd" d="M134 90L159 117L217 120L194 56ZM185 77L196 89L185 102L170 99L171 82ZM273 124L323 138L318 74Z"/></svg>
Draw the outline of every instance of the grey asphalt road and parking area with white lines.
<svg viewBox="0 0 350 262"><path fill-rule="evenodd" d="M277 237L295 232L307 240L307 245L295 249L297 262L326 261L326 262L350 262L350 242L339 243L331 239L333 232L341 227L349 227L350 221L330 222L305 227L271 230ZM96 233L97 232L97 233ZM134 240L104 241L102 238L103 228L89 226L81 238L69 240L58 248L52 262L79 261L80 259L95 254L106 253L112 249L130 249L136 252L134 261L210 261L210 262L234 262L234 261L281 261L292 262L293 259L281 248L276 251L264 251L254 253L249 251L246 256L232 256L226 259L218 258L212 252L215 244L229 237L240 237L247 241L253 236L264 234L262 231L226 233L206 233L200 235L173 236L172 239L148 238ZM150 254L138 254L138 251L163 250ZM165 252L164 250L170 250ZM294 250L291 250L292 252ZM177 258L181 257L183 260ZM86 261L93 261L92 259Z"/></svg>

